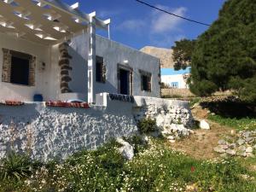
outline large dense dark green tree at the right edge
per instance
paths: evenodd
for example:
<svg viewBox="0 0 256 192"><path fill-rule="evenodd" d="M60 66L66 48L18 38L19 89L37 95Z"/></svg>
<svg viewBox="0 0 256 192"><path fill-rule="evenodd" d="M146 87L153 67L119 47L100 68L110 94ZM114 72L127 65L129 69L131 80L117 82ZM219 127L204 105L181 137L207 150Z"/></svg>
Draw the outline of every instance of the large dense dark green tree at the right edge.
<svg viewBox="0 0 256 192"><path fill-rule="evenodd" d="M256 102L256 0L224 3L218 20L196 40L189 85L198 96L234 90Z"/></svg>

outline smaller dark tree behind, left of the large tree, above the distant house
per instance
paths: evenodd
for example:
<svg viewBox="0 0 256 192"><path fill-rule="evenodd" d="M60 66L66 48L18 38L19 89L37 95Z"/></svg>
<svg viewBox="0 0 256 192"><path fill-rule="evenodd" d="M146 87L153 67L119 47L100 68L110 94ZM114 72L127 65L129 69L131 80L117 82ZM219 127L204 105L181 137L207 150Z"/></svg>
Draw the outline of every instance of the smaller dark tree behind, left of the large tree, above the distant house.
<svg viewBox="0 0 256 192"><path fill-rule="evenodd" d="M174 69L186 69L190 66L192 52L195 48L195 40L182 39L175 42L172 46L172 58L174 61Z"/></svg>

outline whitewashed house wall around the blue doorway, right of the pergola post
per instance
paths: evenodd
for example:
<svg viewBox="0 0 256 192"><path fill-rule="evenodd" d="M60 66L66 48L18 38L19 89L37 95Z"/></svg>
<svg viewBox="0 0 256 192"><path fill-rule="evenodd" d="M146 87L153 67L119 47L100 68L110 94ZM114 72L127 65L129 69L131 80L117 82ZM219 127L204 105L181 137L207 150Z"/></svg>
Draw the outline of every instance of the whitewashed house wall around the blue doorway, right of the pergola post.
<svg viewBox="0 0 256 192"><path fill-rule="evenodd" d="M144 54L137 49L131 49L123 44L96 36L96 55L104 58L104 64L107 67L107 82L105 84L96 84L96 93L101 92L118 92L117 64L124 64L128 61L127 66L133 68L133 96L160 96L160 61L154 56ZM141 90L141 74L139 69L152 73L152 91Z"/></svg>

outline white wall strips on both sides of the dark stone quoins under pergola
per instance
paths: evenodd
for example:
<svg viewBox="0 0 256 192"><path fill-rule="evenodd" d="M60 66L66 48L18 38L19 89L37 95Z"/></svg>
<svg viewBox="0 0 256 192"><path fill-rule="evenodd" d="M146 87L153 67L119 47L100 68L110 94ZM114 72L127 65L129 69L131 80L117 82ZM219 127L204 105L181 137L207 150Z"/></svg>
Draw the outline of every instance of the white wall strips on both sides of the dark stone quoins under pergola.
<svg viewBox="0 0 256 192"><path fill-rule="evenodd" d="M52 46L51 49L51 71L50 81L52 82L49 86L49 100L61 100L61 67L59 66L59 45ZM70 60L70 67L73 70L69 71L72 79L69 82L69 88L73 92L84 95L83 101L87 101L88 92L88 35L75 37L71 39L70 48L68 49L69 55L72 55Z"/></svg>

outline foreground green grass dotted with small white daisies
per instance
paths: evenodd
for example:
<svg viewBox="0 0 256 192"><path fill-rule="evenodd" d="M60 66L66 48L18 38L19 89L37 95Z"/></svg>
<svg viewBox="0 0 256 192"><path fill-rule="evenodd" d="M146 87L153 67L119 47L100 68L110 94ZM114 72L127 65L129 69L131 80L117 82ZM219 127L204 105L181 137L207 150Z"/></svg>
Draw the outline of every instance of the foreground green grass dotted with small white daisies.
<svg viewBox="0 0 256 192"><path fill-rule="evenodd" d="M126 161L115 142L84 150L64 162L50 162L20 181L0 182L0 191L256 191L252 175L237 160L195 160L173 151L163 140L151 140Z"/></svg>

